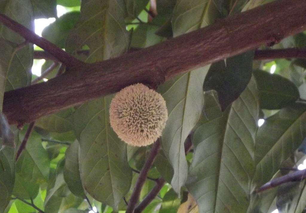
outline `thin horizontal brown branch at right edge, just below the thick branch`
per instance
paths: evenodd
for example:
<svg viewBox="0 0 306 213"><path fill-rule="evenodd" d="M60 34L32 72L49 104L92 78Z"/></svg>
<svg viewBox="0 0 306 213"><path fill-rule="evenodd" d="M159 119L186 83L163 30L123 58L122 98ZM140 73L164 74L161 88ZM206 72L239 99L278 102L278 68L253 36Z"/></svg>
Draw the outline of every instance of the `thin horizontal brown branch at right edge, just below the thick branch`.
<svg viewBox="0 0 306 213"><path fill-rule="evenodd" d="M256 50L254 60L274 58L306 58L306 49L288 48L278 50Z"/></svg>

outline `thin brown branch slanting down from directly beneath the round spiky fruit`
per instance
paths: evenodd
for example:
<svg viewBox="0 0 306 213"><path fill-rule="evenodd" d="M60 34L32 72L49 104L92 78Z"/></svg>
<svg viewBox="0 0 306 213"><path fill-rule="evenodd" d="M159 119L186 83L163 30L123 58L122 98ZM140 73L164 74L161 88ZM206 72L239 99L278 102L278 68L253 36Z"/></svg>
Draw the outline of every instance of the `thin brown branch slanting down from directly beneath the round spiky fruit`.
<svg viewBox="0 0 306 213"><path fill-rule="evenodd" d="M138 202L139 196L140 196L140 192L142 189L142 186L144 185L144 182L146 181L147 178L147 174L151 168L151 166L153 165L154 159L159 151L160 148L160 141L159 139L157 139L155 141L155 143L153 144L150 154L147 158L146 163L144 164L144 167L142 168L142 170L140 171L139 177L137 179L136 185L133 189L131 198L129 200L129 204L128 207L126 209L126 213L133 213L135 206Z"/></svg>

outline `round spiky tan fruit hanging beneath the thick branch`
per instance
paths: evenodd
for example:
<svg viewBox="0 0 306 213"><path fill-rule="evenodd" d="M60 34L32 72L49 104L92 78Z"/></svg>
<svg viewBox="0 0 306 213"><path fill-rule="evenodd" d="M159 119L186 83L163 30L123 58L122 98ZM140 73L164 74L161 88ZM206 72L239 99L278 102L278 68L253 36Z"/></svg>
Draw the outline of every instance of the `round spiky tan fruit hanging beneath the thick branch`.
<svg viewBox="0 0 306 213"><path fill-rule="evenodd" d="M162 95L144 84L133 84L118 92L110 103L110 125L119 138L132 146L154 143L168 119Z"/></svg>

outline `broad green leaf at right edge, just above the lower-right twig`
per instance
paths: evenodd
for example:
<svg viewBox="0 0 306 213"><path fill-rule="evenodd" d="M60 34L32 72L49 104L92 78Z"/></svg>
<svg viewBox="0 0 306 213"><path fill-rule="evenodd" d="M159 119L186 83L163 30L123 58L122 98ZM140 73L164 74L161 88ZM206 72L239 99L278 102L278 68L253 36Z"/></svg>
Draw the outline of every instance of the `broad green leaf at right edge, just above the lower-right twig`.
<svg viewBox="0 0 306 213"><path fill-rule="evenodd" d="M306 107L292 105L269 117L256 135L256 174L253 187L269 181L283 161L306 137Z"/></svg>

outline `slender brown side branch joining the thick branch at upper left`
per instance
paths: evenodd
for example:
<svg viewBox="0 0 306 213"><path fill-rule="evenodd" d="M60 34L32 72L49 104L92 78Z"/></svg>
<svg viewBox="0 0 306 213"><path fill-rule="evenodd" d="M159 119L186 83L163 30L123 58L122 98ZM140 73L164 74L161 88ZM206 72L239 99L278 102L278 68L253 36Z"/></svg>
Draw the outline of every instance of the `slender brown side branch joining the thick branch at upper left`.
<svg viewBox="0 0 306 213"><path fill-rule="evenodd" d="M65 65L69 67L73 67L73 66L84 64L83 62L77 60L73 56L66 53L64 50L58 48L56 45L50 43L46 39L36 35L34 32L29 30L28 28L10 19L6 15L0 14L0 22L6 27L8 27L9 29L20 34L28 42L36 44L38 47L42 48L43 50L46 50L54 58L57 58L58 61L63 62Z"/></svg>

